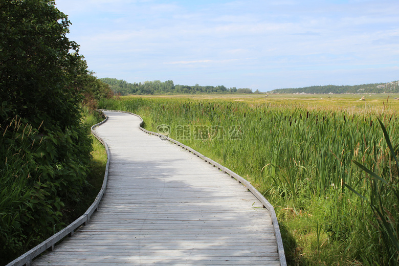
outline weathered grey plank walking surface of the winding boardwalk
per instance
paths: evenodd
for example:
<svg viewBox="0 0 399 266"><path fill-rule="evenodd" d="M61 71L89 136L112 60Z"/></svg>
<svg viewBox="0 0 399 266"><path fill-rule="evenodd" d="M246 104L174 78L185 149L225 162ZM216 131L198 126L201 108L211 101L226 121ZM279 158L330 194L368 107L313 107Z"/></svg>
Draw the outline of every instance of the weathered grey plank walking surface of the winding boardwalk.
<svg viewBox="0 0 399 266"><path fill-rule="evenodd" d="M32 265L280 265L267 209L229 175L104 112L107 189L90 222Z"/></svg>

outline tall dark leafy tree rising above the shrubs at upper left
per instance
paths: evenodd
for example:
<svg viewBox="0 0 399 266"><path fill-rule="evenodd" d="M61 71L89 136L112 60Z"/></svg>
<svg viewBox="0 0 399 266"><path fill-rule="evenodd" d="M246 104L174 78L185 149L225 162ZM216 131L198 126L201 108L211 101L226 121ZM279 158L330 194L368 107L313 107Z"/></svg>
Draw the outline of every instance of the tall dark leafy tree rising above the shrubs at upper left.
<svg viewBox="0 0 399 266"><path fill-rule="evenodd" d="M57 121L62 128L77 123L79 95L72 82L85 69L78 45L66 38L70 21L54 4L52 0L0 4L3 120L20 115L30 121L39 117L46 124Z"/></svg>

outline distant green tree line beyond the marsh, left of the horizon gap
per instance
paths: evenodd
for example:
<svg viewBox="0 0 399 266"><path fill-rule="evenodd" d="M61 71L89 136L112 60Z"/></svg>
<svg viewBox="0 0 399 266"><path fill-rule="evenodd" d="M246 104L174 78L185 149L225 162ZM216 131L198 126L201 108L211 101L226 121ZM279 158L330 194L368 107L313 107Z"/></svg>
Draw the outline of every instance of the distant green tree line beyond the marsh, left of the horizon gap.
<svg viewBox="0 0 399 266"><path fill-rule="evenodd" d="M144 83L128 83L122 79L116 78L101 78L102 82L108 84L115 94L132 95L132 94L251 94L251 88L227 88L224 85L218 86L200 86L195 84L190 85L174 85L172 80L161 82L159 80L145 81ZM255 93L260 93L258 90Z"/></svg>

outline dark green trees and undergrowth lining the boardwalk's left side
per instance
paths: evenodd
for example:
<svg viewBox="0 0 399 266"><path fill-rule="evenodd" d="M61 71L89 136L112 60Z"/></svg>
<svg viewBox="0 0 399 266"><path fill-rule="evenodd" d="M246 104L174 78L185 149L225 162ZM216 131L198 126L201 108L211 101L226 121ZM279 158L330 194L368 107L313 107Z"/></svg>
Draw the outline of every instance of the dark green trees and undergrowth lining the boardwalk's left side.
<svg viewBox="0 0 399 266"><path fill-rule="evenodd" d="M0 264L59 230L86 184L79 106L110 89L66 37L70 24L54 0L0 0Z"/></svg>

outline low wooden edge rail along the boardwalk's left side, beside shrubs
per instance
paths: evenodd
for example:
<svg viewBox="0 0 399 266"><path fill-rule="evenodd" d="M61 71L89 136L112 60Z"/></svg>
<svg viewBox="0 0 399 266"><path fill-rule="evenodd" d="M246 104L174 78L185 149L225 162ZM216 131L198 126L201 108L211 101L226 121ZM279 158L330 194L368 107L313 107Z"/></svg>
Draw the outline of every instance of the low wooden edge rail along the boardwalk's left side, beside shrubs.
<svg viewBox="0 0 399 266"><path fill-rule="evenodd" d="M87 211L77 218L73 223L71 223L69 226L65 227L61 231L55 233L54 235L50 236L47 238L45 241L41 242L39 245L36 247L32 248L30 251L26 252L25 254L19 256L18 258L14 259L10 263L8 263L6 266L30 266L32 260L39 256L41 253L47 251L47 250L53 250L54 246L57 245L58 242L60 242L64 237L66 236L72 236L75 232L75 229L80 227L81 225L86 225L88 221L90 220L91 215L93 214L94 211L97 210L98 205L101 201L102 196L105 193L106 189L106 184L108 180L108 168L109 168L109 148L107 143L101 139L96 132L94 131L94 128L96 128L99 125L104 124L108 120L108 117L106 116L103 121L101 121L98 124L95 124L91 127L92 134L104 145L106 153L107 153L107 164L105 166L105 174L104 174L104 181L102 183L102 187L100 192L97 194L97 197L93 204L87 209Z"/></svg>

